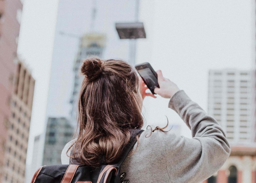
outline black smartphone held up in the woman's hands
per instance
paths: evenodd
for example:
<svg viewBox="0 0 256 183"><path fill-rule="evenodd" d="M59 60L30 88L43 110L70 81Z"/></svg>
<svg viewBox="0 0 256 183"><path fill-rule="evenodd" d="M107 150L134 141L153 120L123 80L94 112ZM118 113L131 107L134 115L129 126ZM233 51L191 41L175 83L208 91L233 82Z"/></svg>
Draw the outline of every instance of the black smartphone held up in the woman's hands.
<svg viewBox="0 0 256 183"><path fill-rule="evenodd" d="M159 84L157 81L157 73L154 71L151 65L148 62L145 62L135 65L135 69L138 71L140 77L143 79L151 93L155 94L154 89L156 87L159 88Z"/></svg>

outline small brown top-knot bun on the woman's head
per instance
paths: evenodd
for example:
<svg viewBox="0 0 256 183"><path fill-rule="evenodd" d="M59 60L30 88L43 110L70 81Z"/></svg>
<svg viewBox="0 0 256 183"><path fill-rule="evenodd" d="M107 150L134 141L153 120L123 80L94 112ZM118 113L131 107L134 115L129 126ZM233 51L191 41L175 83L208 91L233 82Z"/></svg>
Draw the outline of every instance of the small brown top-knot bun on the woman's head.
<svg viewBox="0 0 256 183"><path fill-rule="evenodd" d="M97 57L87 58L83 60L81 72L88 81L94 81L102 75L103 65L103 61Z"/></svg>

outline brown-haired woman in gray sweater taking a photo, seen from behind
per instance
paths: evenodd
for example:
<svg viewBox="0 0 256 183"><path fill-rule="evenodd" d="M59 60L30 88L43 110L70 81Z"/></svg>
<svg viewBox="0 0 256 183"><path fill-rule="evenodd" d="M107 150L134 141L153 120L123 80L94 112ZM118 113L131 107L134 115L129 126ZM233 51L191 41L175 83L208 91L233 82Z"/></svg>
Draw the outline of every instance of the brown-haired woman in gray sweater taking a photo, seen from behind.
<svg viewBox="0 0 256 183"><path fill-rule="evenodd" d="M147 87L133 67L120 60L88 58L81 72L85 75L78 101L79 133L61 155L69 164L70 149L77 159L97 167L102 156L109 164L122 153L130 139L129 129L142 128L142 101ZM209 178L224 164L230 146L218 122L176 84L157 71L160 88L154 92L170 98L169 108L176 111L191 129L192 139L176 136L164 128L149 128L121 166L130 183L198 183Z"/></svg>

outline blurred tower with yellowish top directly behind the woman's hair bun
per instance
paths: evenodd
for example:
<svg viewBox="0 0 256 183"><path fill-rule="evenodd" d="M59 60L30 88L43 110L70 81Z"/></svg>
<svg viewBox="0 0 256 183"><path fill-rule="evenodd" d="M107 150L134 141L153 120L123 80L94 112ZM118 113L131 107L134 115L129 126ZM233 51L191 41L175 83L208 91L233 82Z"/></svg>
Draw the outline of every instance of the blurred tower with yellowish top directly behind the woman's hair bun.
<svg viewBox="0 0 256 183"><path fill-rule="evenodd" d="M71 124L76 125L77 123L77 101L79 91L82 85L83 76L81 77L80 68L82 65L82 60L91 57L97 56L102 57L103 50L105 46L105 35L98 33L89 33L81 37L80 48L77 54L77 59L74 62L74 90L70 99L72 104L71 109Z"/></svg>

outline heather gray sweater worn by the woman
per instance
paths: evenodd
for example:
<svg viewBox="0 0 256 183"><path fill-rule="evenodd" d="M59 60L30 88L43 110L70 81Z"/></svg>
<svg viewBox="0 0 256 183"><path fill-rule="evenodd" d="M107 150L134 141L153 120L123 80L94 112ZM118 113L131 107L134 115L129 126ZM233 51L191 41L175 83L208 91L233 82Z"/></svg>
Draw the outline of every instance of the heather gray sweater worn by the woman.
<svg viewBox="0 0 256 183"><path fill-rule="evenodd" d="M217 172L229 157L230 146L219 123L183 90L172 96L169 108L191 129L193 138L177 136L172 130L154 131L146 138L150 129L145 130L137 150L121 166L130 183L198 183ZM62 164L69 164L70 143L62 151Z"/></svg>

